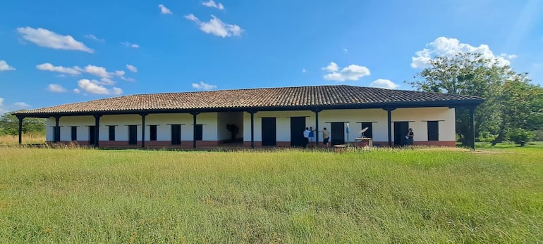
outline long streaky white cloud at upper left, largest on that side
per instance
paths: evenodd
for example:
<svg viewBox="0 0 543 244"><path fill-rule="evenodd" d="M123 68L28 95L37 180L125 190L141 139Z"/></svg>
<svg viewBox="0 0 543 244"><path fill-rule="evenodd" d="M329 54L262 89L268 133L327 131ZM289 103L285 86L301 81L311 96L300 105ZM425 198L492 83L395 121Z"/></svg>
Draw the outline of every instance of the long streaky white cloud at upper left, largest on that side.
<svg viewBox="0 0 543 244"><path fill-rule="evenodd" d="M23 39L33 42L38 46L44 46L51 49L86 51L87 53L94 52L92 49L85 46L83 42L73 39L71 35L63 36L51 32L50 30L43 28L34 29L32 27L19 27L17 28L17 31L23 36Z"/></svg>

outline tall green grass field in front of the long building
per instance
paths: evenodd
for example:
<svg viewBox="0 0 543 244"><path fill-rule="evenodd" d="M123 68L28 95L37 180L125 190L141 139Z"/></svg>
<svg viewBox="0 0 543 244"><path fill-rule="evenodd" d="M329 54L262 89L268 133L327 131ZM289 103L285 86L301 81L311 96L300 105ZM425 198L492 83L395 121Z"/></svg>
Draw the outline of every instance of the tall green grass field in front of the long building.
<svg viewBox="0 0 543 244"><path fill-rule="evenodd" d="M542 158L0 148L0 243L540 243Z"/></svg>

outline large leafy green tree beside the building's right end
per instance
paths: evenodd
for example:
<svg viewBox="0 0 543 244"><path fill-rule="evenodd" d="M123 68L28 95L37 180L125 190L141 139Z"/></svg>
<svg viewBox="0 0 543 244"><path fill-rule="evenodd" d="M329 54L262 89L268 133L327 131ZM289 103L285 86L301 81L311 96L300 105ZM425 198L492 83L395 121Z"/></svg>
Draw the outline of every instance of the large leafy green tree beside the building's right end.
<svg viewBox="0 0 543 244"><path fill-rule="evenodd" d="M494 144L504 140L509 129L525 129L530 122L543 120L537 114L542 112L541 88L530 84L527 74L518 74L499 60L484 58L480 53L434 58L415 79L408 83L420 91L484 98L475 110L475 135L489 131L496 135ZM462 143L470 141L468 123L467 108L457 108L456 133Z"/></svg>

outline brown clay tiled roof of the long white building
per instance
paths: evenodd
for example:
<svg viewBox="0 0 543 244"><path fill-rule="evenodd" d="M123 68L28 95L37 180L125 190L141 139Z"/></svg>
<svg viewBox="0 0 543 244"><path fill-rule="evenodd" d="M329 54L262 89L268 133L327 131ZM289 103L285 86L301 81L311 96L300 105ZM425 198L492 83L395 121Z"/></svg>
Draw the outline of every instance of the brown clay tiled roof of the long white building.
<svg viewBox="0 0 543 244"><path fill-rule="evenodd" d="M165 94L139 94L69 103L49 108L19 110L15 115L61 113L127 113L161 110L238 110L258 108L332 108L341 105L386 105L394 103L478 104L475 96L438 94L421 91L389 90L363 86L298 86L224 91L198 91Z"/></svg>

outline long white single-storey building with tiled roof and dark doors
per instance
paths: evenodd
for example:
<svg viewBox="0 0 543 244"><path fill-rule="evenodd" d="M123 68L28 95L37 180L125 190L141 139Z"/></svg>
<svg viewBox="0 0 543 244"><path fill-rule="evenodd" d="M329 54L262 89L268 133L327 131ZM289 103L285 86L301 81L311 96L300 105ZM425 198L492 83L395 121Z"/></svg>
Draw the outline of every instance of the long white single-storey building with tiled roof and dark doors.
<svg viewBox="0 0 543 244"><path fill-rule="evenodd" d="M473 96L342 85L140 94L13 114L20 122L48 118L48 142L96 147L304 146L305 127L326 127L332 144L353 142L368 127L364 136L380 146L405 144L408 128L415 145L455 146L455 108L470 108L472 117L480 103ZM322 134L315 139L322 143Z"/></svg>

